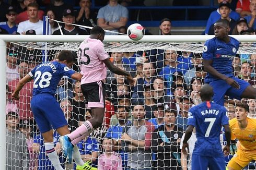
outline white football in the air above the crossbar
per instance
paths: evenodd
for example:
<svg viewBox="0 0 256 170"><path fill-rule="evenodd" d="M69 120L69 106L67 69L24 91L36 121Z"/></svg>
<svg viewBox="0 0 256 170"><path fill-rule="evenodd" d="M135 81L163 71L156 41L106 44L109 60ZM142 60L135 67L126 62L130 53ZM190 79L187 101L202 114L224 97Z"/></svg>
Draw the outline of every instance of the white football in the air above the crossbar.
<svg viewBox="0 0 256 170"><path fill-rule="evenodd" d="M134 23L127 29L127 35L134 41L141 40L144 34L145 30L139 23Z"/></svg>

